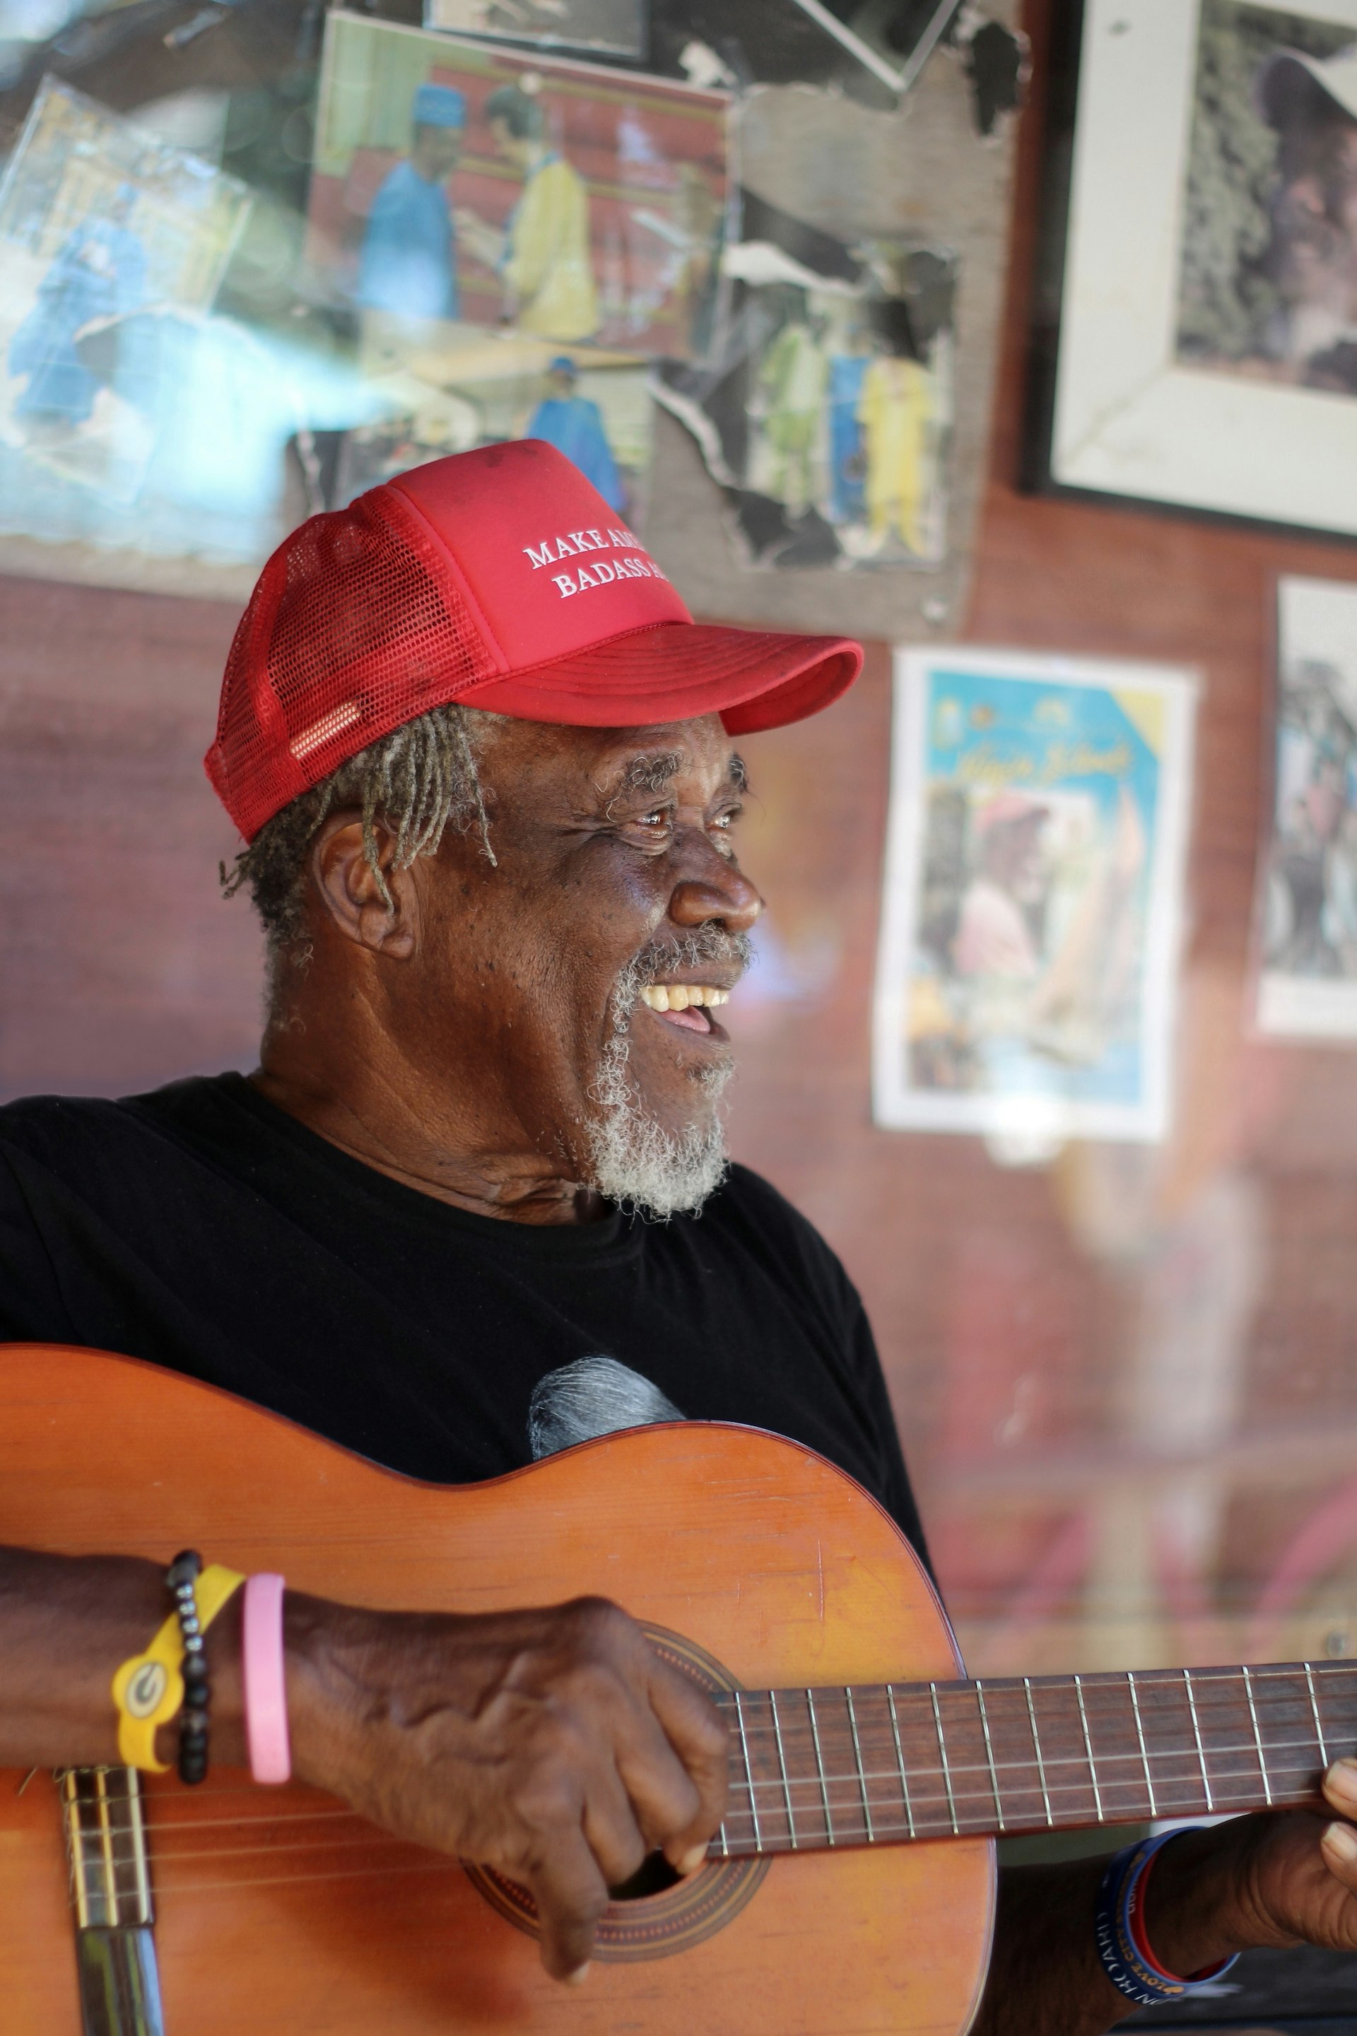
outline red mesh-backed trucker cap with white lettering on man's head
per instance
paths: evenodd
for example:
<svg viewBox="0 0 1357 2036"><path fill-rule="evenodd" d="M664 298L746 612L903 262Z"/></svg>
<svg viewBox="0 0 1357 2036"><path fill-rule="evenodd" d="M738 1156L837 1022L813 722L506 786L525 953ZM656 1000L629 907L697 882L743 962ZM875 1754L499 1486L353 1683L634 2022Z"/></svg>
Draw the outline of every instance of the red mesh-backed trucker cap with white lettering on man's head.
<svg viewBox="0 0 1357 2036"><path fill-rule="evenodd" d="M827 706L848 637L701 627L615 509L536 438L412 466L314 515L240 617L208 778L247 841L430 706L731 735Z"/></svg>

